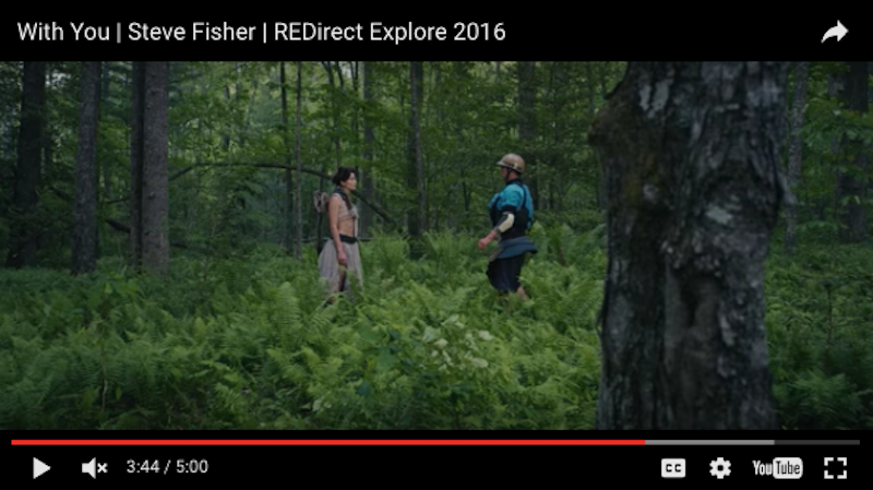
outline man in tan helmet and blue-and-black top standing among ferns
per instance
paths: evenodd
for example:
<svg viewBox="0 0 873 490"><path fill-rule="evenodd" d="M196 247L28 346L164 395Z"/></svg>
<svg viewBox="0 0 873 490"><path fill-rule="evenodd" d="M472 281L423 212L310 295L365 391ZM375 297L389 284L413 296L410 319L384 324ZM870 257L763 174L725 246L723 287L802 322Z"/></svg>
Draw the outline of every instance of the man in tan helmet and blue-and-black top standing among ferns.
<svg viewBox="0 0 873 490"><path fill-rule="evenodd" d="M497 165L506 186L488 203L493 228L479 240L479 249L485 250L491 241L500 238L498 250L488 262L488 278L499 292L514 291L523 299L528 299L519 275L527 254L537 253L537 247L527 237L527 230L534 223L534 199L530 190L522 182L525 160L510 153Z"/></svg>

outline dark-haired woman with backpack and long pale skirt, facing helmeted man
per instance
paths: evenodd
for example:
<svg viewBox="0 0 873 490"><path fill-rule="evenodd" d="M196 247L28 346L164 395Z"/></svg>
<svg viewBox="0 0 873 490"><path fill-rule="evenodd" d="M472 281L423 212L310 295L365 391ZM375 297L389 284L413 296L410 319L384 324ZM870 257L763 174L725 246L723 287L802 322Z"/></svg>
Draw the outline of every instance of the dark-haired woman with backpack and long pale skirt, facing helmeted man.
<svg viewBox="0 0 873 490"><path fill-rule="evenodd" d="M327 211L331 238L319 254L319 273L328 285L328 302L337 292L350 292L348 274L357 276L363 288L363 267L358 246L358 207L351 203L349 194L357 189L357 171L340 167L333 177L336 184L333 194L316 191L315 210Z"/></svg>

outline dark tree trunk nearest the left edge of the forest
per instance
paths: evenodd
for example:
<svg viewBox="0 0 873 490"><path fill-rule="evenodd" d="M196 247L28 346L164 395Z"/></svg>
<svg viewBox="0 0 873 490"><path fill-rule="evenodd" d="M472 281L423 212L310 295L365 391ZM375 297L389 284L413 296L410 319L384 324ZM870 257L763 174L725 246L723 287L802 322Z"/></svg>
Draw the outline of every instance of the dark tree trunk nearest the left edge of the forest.
<svg viewBox="0 0 873 490"><path fill-rule="evenodd" d="M15 189L12 195L12 226L7 266L38 265L37 226L39 206L40 155L43 154L43 118L45 116L46 62L25 61L22 76L21 129Z"/></svg>

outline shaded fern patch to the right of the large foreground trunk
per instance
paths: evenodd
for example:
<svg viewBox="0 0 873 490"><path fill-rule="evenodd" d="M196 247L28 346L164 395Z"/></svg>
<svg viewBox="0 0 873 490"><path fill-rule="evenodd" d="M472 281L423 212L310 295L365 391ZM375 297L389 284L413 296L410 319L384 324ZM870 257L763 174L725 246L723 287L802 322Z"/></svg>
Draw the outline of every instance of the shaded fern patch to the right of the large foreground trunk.
<svg viewBox="0 0 873 490"><path fill-rule="evenodd" d="M770 370L787 429L873 429L871 250L811 249L767 271Z"/></svg>

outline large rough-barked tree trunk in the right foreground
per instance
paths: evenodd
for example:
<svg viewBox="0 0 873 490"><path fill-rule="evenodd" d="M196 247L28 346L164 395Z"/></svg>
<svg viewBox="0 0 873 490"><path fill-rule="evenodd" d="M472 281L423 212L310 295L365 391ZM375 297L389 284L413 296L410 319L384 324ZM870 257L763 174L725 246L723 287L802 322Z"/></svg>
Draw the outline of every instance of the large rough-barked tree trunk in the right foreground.
<svg viewBox="0 0 873 490"><path fill-rule="evenodd" d="M607 170L598 429L776 429L764 261L785 193L788 62L630 63Z"/></svg>

